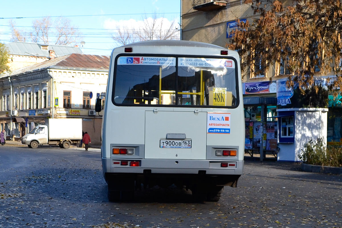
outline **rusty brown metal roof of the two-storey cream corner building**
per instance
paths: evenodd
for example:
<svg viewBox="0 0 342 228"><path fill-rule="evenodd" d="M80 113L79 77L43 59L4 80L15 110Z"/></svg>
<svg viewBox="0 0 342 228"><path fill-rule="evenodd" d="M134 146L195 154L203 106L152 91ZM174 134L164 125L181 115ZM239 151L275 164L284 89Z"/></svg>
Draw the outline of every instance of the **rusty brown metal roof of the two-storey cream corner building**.
<svg viewBox="0 0 342 228"><path fill-rule="evenodd" d="M75 69L84 71L108 71L109 56L69 54L57 57L42 63L16 69L10 74L4 74L0 78L15 76L41 69Z"/></svg>

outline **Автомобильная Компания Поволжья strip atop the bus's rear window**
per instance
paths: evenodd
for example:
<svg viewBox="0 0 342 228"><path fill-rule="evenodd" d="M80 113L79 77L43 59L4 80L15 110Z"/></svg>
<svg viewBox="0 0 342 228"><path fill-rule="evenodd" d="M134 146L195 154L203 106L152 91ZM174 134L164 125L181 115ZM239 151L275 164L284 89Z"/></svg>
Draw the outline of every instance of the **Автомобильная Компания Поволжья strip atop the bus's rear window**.
<svg viewBox="0 0 342 228"><path fill-rule="evenodd" d="M176 58L156 56L120 56L118 65L162 65L175 66Z"/></svg>

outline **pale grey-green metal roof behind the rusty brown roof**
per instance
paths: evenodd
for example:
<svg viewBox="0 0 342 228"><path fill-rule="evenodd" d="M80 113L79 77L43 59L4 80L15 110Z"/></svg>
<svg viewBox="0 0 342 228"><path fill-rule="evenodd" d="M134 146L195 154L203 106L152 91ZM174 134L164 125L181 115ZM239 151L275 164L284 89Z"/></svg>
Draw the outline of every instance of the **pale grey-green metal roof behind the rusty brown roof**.
<svg viewBox="0 0 342 228"><path fill-rule="evenodd" d="M42 43L26 43L15 41L6 43L5 46L7 47L8 53L10 55L28 55L49 58L49 50L53 50L55 52L55 57L72 53L82 54L82 50L79 47L71 47L65 45L47 45ZM47 50L43 50L42 46L47 46Z"/></svg>

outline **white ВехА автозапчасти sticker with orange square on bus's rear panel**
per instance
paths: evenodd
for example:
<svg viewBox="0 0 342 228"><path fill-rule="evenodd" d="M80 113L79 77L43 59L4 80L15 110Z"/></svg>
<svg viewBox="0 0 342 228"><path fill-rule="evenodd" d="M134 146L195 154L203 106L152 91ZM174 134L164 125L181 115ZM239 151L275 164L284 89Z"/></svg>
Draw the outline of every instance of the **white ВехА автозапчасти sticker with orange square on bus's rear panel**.
<svg viewBox="0 0 342 228"><path fill-rule="evenodd" d="M230 134L231 114L230 113L207 113L207 133Z"/></svg>

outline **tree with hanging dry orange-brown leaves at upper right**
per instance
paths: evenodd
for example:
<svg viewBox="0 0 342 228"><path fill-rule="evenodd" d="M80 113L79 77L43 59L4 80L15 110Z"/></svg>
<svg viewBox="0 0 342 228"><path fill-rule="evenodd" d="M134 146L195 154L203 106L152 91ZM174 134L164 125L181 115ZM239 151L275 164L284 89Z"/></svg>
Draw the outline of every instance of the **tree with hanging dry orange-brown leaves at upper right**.
<svg viewBox="0 0 342 228"><path fill-rule="evenodd" d="M287 59L289 86L302 88L314 84L320 75L337 75L334 86L342 88L342 3L333 0L245 0L255 17L232 31L227 44L238 50L241 68L251 70L255 61L259 71L267 71L280 59ZM258 72L256 72L258 73ZM259 72L260 73L260 72Z"/></svg>

